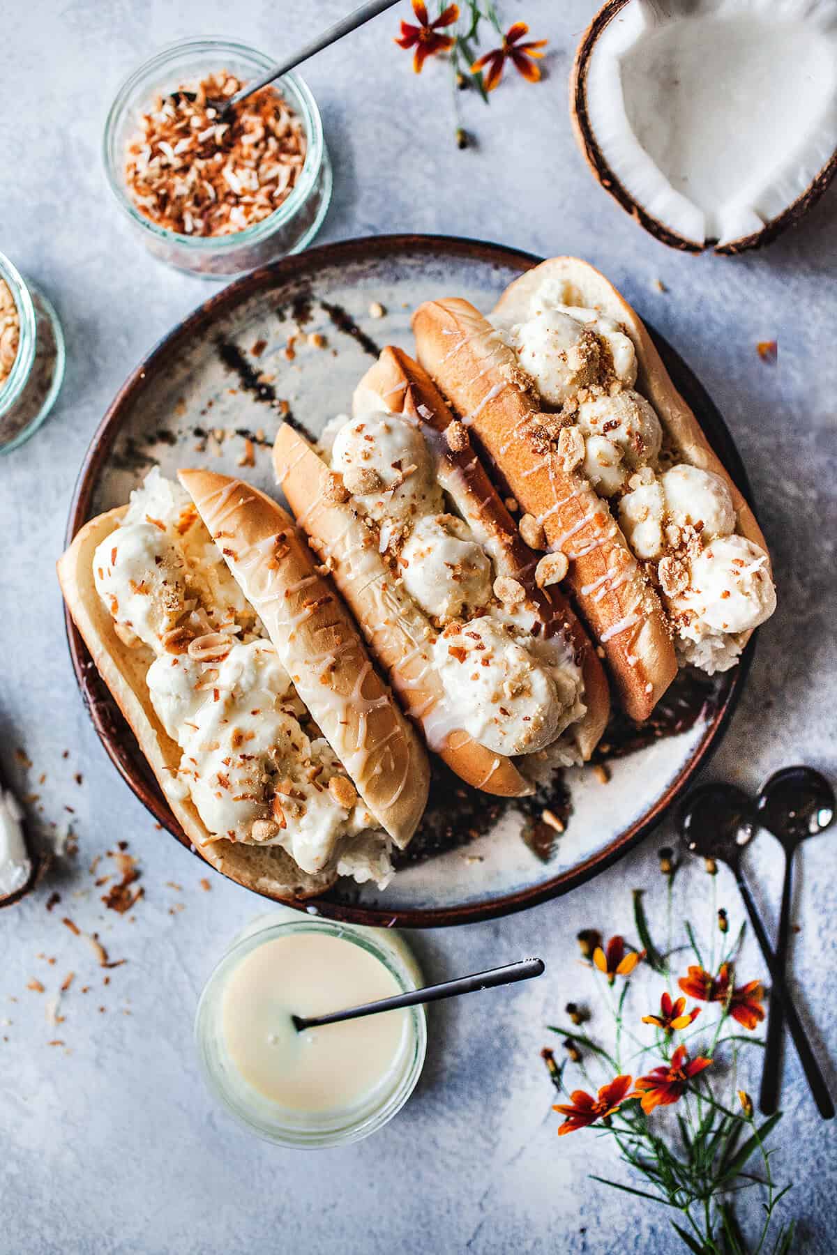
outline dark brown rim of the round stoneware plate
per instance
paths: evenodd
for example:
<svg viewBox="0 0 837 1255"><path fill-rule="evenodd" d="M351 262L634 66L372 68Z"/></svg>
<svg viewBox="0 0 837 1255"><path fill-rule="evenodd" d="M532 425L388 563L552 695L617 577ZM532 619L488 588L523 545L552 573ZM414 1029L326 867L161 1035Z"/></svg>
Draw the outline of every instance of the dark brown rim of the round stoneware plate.
<svg viewBox="0 0 837 1255"><path fill-rule="evenodd" d="M146 388L153 387L157 373L163 370L173 356L179 355L181 349L193 336L206 333L216 318L228 314L238 304L248 300L260 291L289 282L315 280L317 271L326 266L340 266L366 260L380 261L404 254L413 256L425 254L434 259L439 256L474 259L521 272L530 270L543 260L518 248L508 248L503 245L486 243L479 240L468 240L459 236L390 235L320 245L315 248L307 248L302 254L284 257L269 266L262 266L236 280L228 287L222 289L222 291L210 297L208 301L200 305L182 323L178 323L125 379L99 423L82 463L67 523L67 543L70 543L79 528L90 517L95 483L122 429L123 410L133 404ZM709 394L679 354L648 323L646 326L675 385L685 394L686 400L701 419L708 419L708 434L712 437L715 452L752 505L749 482L740 456L727 424ZM174 820L156 781L149 781L147 776L138 773L137 757L139 750L133 734L120 715L114 722L113 703L103 700L103 690L104 693L107 690L98 676L98 671L67 607L64 617L75 679L108 757L154 820L182 845L191 847L188 837ZM540 902L566 894L568 890L582 885L592 876L610 867L617 858L653 832L661 822L669 807L689 787L696 772L701 767L705 767L718 748L738 704L753 660L754 646L755 638L753 636L742 655L740 663L729 673L730 679L727 690L722 694L718 707L708 720L691 757L680 769L671 786L649 807L641 818L619 833L606 848L597 851L575 867L513 894L439 909L388 909L385 905L364 906L334 901L328 894L304 902L289 902L284 899L276 900L284 901L286 905L294 906L300 911L309 910L311 914L316 912L328 919L349 924L364 924L373 927L439 927L511 915L514 911L536 906ZM205 866L208 866L208 863Z"/></svg>

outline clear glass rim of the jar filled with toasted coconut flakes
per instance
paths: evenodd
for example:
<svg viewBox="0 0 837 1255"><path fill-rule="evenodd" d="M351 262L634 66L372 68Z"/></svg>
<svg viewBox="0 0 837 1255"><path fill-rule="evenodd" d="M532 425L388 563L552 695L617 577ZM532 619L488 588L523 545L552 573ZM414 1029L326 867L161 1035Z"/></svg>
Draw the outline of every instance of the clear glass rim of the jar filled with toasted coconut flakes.
<svg viewBox="0 0 837 1255"><path fill-rule="evenodd" d="M166 241L167 243L174 242L179 247L191 248L198 255L202 252L206 255L232 252L242 246L257 243L271 236L279 227L292 221L296 212L305 205L309 192L316 182L325 151L323 118L314 94L304 78L289 72L276 80L276 85L281 89L282 84L287 84L291 89L291 95L294 97L291 104L297 109L305 127L305 161L290 196L279 208L274 210L270 217L262 218L261 222L256 222L251 227L245 227L242 231L235 231L231 235L191 236L178 231L169 231L168 227L161 227L156 222L152 222L151 218L147 218L144 213L141 213L133 203L124 178L120 178L119 169L117 168L114 143L119 119L128 107L132 93L151 73L164 68L181 55L213 51L250 59L256 63L257 69L267 70L275 64L270 56L260 53L251 44L242 44L240 40L227 39L223 35L203 35L197 39L181 39L172 44L166 44L164 48L161 48L153 56L149 56L147 61L143 61L142 65L124 79L108 110L102 139L102 157L108 186L128 217L157 240Z"/></svg>

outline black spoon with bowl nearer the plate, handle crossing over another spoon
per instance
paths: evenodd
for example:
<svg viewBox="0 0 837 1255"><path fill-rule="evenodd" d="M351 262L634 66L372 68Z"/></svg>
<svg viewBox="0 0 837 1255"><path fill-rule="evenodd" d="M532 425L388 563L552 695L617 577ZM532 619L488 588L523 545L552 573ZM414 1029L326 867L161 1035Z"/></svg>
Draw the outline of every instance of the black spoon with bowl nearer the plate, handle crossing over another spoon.
<svg viewBox="0 0 837 1255"><path fill-rule="evenodd" d="M784 983L782 964L770 949L770 941L758 914L742 868L742 851L757 830L755 807L743 789L734 784L700 784L684 801L678 814L680 837L691 853L725 862L738 885L755 939L770 974L774 995L782 999L793 1044L811 1093L823 1119L834 1114L824 1077L819 1071L799 1014Z"/></svg>

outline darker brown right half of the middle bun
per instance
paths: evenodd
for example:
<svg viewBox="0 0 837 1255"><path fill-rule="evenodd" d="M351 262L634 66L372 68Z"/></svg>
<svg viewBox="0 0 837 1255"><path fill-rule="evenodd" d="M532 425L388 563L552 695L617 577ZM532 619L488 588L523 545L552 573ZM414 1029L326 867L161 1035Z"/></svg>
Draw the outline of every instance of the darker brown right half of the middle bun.
<svg viewBox="0 0 837 1255"><path fill-rule="evenodd" d="M359 408L369 394L393 413L407 414L422 424L435 457L439 483L484 542L497 572L523 585L527 600L537 607L546 636L555 633L570 636L585 681L587 710L573 732L586 762L607 723L610 689L577 615L557 586L538 589L535 582L537 555L523 543L514 520L471 444L457 451L444 438L453 414L427 370L402 349L388 346L358 385L355 403Z"/></svg>

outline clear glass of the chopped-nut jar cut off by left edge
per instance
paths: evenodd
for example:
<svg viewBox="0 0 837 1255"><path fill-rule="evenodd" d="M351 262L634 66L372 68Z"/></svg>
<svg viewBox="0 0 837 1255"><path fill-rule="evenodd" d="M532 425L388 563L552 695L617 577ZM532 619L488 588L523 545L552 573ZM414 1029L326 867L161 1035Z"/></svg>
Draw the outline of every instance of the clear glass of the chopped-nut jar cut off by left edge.
<svg viewBox="0 0 837 1255"><path fill-rule="evenodd" d="M19 341L11 371L0 383L0 453L11 453L55 404L64 380L64 334L44 294L0 254L0 280L18 311Z"/></svg>

